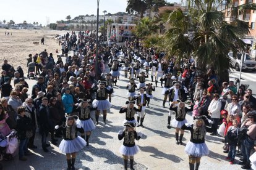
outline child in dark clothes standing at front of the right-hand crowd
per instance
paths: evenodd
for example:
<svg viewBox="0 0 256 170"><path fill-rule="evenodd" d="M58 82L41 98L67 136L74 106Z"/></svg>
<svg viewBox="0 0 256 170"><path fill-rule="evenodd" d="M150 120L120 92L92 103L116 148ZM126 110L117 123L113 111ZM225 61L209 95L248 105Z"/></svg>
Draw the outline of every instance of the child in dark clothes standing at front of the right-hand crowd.
<svg viewBox="0 0 256 170"><path fill-rule="evenodd" d="M226 135L226 139L229 145L229 152L226 160L230 160L229 164L234 164L234 158L236 156L237 130L239 129L237 125L237 119L233 119L233 126L228 128L228 134Z"/></svg>

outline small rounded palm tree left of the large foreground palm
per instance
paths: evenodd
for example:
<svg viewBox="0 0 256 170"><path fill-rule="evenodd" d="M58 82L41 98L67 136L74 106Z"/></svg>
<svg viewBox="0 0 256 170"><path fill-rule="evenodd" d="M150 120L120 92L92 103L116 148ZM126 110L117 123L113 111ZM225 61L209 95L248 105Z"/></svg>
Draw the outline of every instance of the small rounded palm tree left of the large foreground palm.
<svg viewBox="0 0 256 170"><path fill-rule="evenodd" d="M158 26L153 20L150 20L148 17L143 17L136 25L135 34L139 38L145 38L145 36L156 33L157 29Z"/></svg>

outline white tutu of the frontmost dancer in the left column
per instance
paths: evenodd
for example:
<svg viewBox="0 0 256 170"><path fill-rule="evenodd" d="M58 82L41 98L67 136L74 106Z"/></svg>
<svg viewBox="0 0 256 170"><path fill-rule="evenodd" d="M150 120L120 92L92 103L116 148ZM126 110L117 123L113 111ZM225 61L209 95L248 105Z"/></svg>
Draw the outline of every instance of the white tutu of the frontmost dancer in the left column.
<svg viewBox="0 0 256 170"><path fill-rule="evenodd" d="M61 144L59 144L59 150L61 150L62 153L74 153L79 152L82 150L83 147L85 147L86 142L82 137L78 136L73 140L61 140Z"/></svg>

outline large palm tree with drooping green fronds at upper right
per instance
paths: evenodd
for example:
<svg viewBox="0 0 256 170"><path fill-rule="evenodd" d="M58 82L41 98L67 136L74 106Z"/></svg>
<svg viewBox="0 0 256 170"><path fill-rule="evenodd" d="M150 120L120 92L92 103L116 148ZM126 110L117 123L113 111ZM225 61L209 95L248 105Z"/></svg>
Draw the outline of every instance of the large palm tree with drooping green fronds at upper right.
<svg viewBox="0 0 256 170"><path fill-rule="evenodd" d="M163 40L166 52L178 57L177 61L192 55L199 71L213 67L221 81L228 81L228 53L245 50L241 38L249 33L249 25L237 16L233 22L226 22L223 13L216 10L218 0L187 2L187 11L176 9L163 15L162 21L169 28Z"/></svg>

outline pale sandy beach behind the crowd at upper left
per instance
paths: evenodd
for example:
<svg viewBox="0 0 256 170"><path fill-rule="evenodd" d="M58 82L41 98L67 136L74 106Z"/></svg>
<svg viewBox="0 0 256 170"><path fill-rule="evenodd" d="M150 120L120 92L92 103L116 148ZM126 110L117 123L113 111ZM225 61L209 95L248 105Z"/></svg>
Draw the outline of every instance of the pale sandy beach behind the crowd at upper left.
<svg viewBox="0 0 256 170"><path fill-rule="evenodd" d="M36 33L35 33L36 31ZM9 36L5 36L4 32L9 32ZM12 33L12 36L11 36ZM0 29L0 65L4 62L4 59L8 60L15 70L20 65L23 71L27 72L27 58L28 54L35 55L36 53L46 51L53 53L54 59L56 59L56 49L61 51L61 46L54 35L66 34L67 31L53 31L53 30L12 30L12 29ZM41 45L41 38L45 38L45 45ZM39 42L38 45L33 42Z"/></svg>

